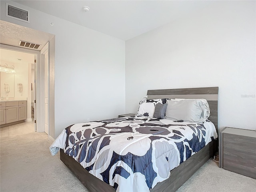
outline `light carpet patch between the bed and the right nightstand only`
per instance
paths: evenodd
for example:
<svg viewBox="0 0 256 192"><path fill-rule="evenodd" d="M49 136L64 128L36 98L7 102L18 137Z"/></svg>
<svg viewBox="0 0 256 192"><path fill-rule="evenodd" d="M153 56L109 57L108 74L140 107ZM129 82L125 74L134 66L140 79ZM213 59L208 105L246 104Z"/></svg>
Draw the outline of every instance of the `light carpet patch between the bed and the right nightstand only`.
<svg viewBox="0 0 256 192"><path fill-rule="evenodd" d="M208 160L176 192L255 192L256 179L219 168Z"/></svg>

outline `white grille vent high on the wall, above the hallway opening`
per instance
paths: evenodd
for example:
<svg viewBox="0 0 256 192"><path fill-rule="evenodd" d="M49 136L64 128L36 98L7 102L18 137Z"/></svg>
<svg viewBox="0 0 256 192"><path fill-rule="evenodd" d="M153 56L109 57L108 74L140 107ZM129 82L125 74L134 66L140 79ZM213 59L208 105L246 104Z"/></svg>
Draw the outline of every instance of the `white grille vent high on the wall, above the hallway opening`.
<svg viewBox="0 0 256 192"><path fill-rule="evenodd" d="M6 3L6 16L29 23L29 11Z"/></svg>

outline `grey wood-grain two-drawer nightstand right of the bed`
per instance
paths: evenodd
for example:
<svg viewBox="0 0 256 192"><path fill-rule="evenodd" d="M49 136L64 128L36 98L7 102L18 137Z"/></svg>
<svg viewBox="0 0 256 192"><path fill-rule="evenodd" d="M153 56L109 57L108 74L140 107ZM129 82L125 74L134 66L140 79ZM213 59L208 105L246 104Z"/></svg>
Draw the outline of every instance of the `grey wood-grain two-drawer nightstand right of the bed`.
<svg viewBox="0 0 256 192"><path fill-rule="evenodd" d="M225 127L220 139L221 167L256 178L256 131Z"/></svg>

